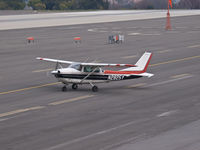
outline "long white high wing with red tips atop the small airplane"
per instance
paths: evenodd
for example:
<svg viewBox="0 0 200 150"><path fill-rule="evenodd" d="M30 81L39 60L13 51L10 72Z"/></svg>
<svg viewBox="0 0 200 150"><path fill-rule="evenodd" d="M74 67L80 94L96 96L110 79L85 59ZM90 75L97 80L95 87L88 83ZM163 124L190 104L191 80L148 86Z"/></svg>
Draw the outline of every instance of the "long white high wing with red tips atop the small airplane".
<svg viewBox="0 0 200 150"><path fill-rule="evenodd" d="M92 66L92 67L136 67L136 65L131 65L131 64L80 63L80 62L74 62L74 61L65 61L65 60L42 58L42 57L37 57L36 59L49 61L49 62L55 62L55 63L62 63L62 64L79 63L82 66Z"/></svg>

